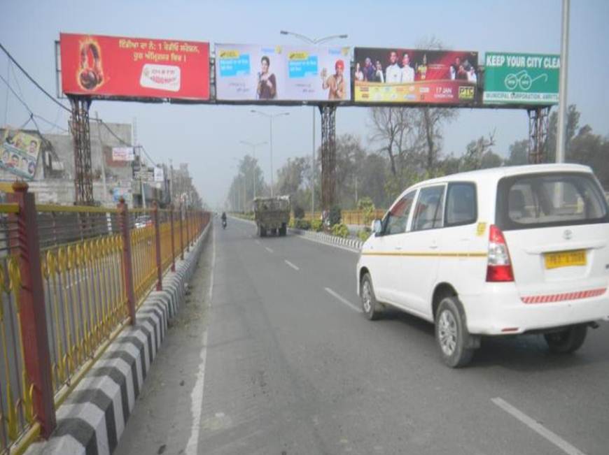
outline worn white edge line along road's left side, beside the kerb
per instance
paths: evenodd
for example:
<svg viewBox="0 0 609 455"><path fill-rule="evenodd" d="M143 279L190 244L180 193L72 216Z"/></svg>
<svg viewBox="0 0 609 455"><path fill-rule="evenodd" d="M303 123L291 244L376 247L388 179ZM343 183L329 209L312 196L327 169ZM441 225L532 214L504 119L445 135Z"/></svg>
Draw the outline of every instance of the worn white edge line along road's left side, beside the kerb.
<svg viewBox="0 0 609 455"><path fill-rule="evenodd" d="M211 296L214 295L214 269L216 268L216 231L213 232L213 247L211 250L211 275L209 277L209 292L207 294L207 308L211 308ZM199 432L201 428L201 414L203 412L203 388L205 384L205 363L207 362L207 329L203 332L203 347L201 348L199 370L193 391L190 392L190 412L193 413L193 425L190 427L190 438L186 443L186 455L197 455L199 450Z"/></svg>

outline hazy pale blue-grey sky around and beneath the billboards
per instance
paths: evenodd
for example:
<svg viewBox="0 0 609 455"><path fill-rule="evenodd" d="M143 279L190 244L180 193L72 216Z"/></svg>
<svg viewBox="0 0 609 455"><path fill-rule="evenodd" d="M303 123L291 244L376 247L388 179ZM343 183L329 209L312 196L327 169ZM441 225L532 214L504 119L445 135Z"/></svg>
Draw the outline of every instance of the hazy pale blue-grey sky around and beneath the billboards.
<svg viewBox="0 0 609 455"><path fill-rule="evenodd" d="M282 36L286 29L321 37L349 34L332 44L368 47L412 47L435 36L455 50L559 53L561 1L29 1L2 0L0 42L31 75L55 94L53 42L59 31L172 38L210 43L299 44ZM581 123L609 133L609 1L572 0L568 101L577 103ZM0 74L7 59L0 54ZM38 115L67 125L66 113L16 71L20 89ZM11 73L11 80L13 75ZM17 87L15 87L17 89ZM19 92L19 89L18 89ZM66 103L64 101L64 103ZM67 104L67 103L66 103ZM0 82L0 123L18 126L29 115ZM237 159L248 149L239 140L269 139L268 121L250 106L174 106L94 101L107 122L137 118L138 140L155 161L188 162L205 201L225 200ZM311 153L311 107L261 108L288 111L274 122L274 168L288 157ZM337 134L354 133L367 144L367 109L339 108ZM317 144L319 116L317 115ZM41 123L43 132L50 131ZM496 130L496 151L507 153L514 140L526 138L526 112L460 110L444 131L443 152L461 154L472 139ZM269 181L269 150L258 149Z"/></svg>

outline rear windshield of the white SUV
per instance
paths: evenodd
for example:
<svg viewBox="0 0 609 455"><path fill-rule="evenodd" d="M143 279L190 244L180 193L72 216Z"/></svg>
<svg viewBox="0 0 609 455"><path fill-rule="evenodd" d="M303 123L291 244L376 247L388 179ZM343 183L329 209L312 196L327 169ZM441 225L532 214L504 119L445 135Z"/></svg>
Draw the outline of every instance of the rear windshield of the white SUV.
<svg viewBox="0 0 609 455"><path fill-rule="evenodd" d="M589 173L544 173L503 178L497 188L500 229L609 222L607 201Z"/></svg>

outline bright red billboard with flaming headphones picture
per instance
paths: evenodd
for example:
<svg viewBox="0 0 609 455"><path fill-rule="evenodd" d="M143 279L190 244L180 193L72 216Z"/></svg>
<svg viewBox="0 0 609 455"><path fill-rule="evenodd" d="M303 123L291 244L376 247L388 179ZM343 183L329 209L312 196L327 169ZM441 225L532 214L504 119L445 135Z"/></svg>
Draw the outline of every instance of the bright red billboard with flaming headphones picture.
<svg viewBox="0 0 609 455"><path fill-rule="evenodd" d="M209 43L60 35L65 94L209 99Z"/></svg>

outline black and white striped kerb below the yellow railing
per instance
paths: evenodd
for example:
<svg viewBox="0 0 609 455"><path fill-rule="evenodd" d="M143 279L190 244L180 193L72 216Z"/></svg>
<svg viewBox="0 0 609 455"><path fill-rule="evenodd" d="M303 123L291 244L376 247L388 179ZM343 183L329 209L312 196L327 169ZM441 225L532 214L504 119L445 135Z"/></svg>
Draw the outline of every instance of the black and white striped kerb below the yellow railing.
<svg viewBox="0 0 609 455"><path fill-rule="evenodd" d="M148 295L137 311L137 324L123 329L59 407L51 438L31 445L26 455L109 455L116 449L167 323L184 301L210 226L176 262L175 273L165 275L163 290Z"/></svg>

